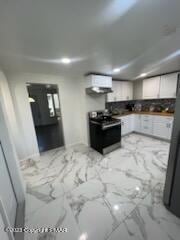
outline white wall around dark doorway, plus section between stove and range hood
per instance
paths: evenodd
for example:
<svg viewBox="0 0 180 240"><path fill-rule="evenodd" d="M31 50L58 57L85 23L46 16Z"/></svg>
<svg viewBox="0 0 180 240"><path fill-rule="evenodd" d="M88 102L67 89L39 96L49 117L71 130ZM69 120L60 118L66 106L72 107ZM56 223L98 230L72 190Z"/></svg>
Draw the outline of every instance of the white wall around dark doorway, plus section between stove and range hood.
<svg viewBox="0 0 180 240"><path fill-rule="evenodd" d="M65 146L88 141L87 113L102 110L105 96L89 96L85 93L85 79L31 73L8 73L8 84L13 99L18 131L15 143L20 160L39 155L26 83L57 84L64 130Z"/></svg>

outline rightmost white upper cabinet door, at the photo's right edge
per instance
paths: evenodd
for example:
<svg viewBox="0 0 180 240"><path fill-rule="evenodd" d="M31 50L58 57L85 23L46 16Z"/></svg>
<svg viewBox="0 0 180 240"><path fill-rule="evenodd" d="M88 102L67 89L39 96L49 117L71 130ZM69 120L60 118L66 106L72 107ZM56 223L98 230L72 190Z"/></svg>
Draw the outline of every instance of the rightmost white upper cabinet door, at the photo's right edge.
<svg viewBox="0 0 180 240"><path fill-rule="evenodd" d="M177 73L161 76L160 98L176 98Z"/></svg>

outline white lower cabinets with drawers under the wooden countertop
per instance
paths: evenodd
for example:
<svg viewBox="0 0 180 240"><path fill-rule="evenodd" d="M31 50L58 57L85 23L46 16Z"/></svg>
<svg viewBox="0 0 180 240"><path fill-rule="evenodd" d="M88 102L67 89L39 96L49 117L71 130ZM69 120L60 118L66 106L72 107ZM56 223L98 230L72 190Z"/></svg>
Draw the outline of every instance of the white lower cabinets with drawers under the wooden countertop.
<svg viewBox="0 0 180 240"><path fill-rule="evenodd" d="M118 119L121 119L122 136L137 132L165 140L171 139L173 117L131 114Z"/></svg>

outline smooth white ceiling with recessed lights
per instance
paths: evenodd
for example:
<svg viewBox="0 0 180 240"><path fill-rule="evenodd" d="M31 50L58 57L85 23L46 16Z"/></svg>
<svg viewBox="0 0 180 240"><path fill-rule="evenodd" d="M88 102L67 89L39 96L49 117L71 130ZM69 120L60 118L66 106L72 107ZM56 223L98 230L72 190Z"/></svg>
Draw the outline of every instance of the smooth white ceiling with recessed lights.
<svg viewBox="0 0 180 240"><path fill-rule="evenodd" d="M125 79L178 70L180 0L0 0L0 66L72 76L118 67Z"/></svg>

